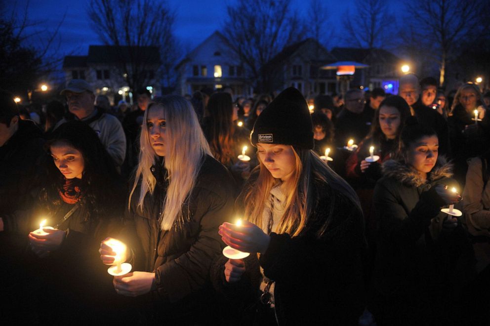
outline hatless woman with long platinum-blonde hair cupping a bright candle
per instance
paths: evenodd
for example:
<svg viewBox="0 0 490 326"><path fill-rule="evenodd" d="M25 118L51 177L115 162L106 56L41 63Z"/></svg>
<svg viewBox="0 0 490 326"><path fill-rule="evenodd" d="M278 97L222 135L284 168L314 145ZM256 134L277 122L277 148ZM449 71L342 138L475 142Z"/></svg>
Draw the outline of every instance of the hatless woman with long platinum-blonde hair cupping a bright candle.
<svg viewBox="0 0 490 326"><path fill-rule="evenodd" d="M146 302L141 322L209 324L215 318L209 267L223 245L216 230L232 214L235 187L211 156L191 104L166 96L145 111L124 232L133 271L114 278L120 295ZM115 264L113 239L101 259ZM125 259L124 259L125 258Z"/></svg>

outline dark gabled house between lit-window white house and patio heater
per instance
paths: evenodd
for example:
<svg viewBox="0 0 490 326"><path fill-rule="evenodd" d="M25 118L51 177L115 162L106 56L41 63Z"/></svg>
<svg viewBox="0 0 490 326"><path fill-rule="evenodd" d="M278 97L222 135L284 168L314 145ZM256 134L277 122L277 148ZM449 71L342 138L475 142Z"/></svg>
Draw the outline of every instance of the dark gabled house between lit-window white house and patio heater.
<svg viewBox="0 0 490 326"><path fill-rule="evenodd" d="M336 90L337 78L335 71L321 67L335 61L324 46L309 38L286 46L267 63L266 69L274 76L274 90L293 86L304 95L326 94Z"/></svg>

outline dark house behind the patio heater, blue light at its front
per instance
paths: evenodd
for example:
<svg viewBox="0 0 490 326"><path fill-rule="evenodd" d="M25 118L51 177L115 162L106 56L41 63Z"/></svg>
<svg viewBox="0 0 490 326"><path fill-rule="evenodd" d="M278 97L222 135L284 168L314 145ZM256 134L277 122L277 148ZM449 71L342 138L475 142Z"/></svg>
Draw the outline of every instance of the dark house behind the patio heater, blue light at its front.
<svg viewBox="0 0 490 326"><path fill-rule="evenodd" d="M398 94L398 79L401 76L401 60L393 53L379 48L335 47L332 49L338 61L355 61L369 67L357 70L351 81L363 89L382 87L386 92Z"/></svg>

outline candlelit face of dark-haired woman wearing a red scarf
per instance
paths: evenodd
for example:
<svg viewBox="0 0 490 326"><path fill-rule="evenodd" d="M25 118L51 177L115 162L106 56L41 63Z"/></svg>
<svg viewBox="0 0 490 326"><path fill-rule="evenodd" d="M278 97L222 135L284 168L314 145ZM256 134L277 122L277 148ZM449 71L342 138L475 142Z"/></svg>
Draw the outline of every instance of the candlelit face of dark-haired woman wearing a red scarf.
<svg viewBox="0 0 490 326"><path fill-rule="evenodd" d="M67 179L82 179L84 160L82 153L65 141L50 146L54 164Z"/></svg>

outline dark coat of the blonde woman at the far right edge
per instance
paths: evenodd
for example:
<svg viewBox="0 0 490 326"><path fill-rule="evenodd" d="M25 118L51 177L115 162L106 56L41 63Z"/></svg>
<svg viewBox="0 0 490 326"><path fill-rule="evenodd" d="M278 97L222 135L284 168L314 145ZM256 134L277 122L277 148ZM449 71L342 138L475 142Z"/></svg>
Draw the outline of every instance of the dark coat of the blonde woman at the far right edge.
<svg viewBox="0 0 490 326"><path fill-rule="evenodd" d="M472 118L474 115L466 112L461 105L456 106L448 118L454 175L463 185L468 170L466 161L486 152L490 142L490 110L486 110L483 121L478 124Z"/></svg>

